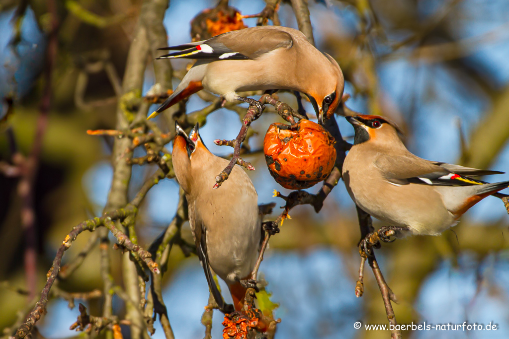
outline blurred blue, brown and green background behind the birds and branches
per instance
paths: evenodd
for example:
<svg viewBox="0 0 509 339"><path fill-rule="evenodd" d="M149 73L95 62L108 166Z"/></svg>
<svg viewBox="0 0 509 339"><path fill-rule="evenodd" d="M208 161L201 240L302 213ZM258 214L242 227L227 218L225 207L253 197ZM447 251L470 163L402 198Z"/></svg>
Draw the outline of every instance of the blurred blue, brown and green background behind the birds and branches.
<svg viewBox="0 0 509 339"><path fill-rule="evenodd" d="M10 162L6 130L12 129L24 154L30 151L43 95L44 57L51 14L45 0L0 0L0 97L14 98L13 112L0 107L0 160ZM164 16L168 44L190 40L190 21L216 5L212 0L172 0ZM242 14L259 13L262 0L231 0ZM112 138L88 136L88 129L112 129L116 124L117 95L127 52L143 2L140 0L64 0L57 2L60 18L58 55L52 74L52 104L42 139L35 176L37 232L37 291L45 282L55 251L73 225L101 214L111 184L109 163ZM321 0L308 1L317 47L330 53L343 69L347 105L366 114L386 115L406 132L406 143L416 155L466 166L509 170L509 2L505 0ZM17 9L22 15L14 19ZM297 28L289 2L280 4L281 25ZM247 26L256 19L245 19ZM160 46L163 47L163 46ZM186 62L173 67L183 70ZM143 94L155 83L148 60ZM178 73L178 72L177 72ZM174 79L174 86L178 79ZM296 108L295 99L280 100ZM187 111L206 102L193 96ZM306 110L313 112L306 103ZM8 115L8 116L7 116ZM313 115L313 114L310 114ZM353 129L336 117L344 136ZM251 150L262 147L269 124L280 118L264 114L251 128ZM166 120L159 125L167 129ZM232 139L240 128L236 111L219 109L201 129L210 149L230 153L213 139ZM350 140L351 141L351 140ZM171 148L171 144L168 145ZM136 154L136 151L135 151ZM276 201L273 189L286 194L272 180L263 156L246 158L256 172L248 173L260 203ZM132 196L152 166L134 166ZM491 180L502 181L507 175ZM12 290L26 286L23 268L23 230L18 178L0 174L0 329L11 326L27 298ZM320 188L309 189L317 192ZM150 244L177 210L178 184L162 180L150 192L138 216L139 243ZM276 201L284 204L282 201ZM279 214L278 208L274 216ZM291 213L281 233L272 237L261 271L280 304L275 316L277 337L379 338L387 333L355 330L353 322L386 323L383 302L371 271L366 270L365 293L356 299L354 286L360 258L355 208L340 182L316 214L310 206ZM509 218L499 199L489 197L473 207L462 222L441 236L411 237L384 244L377 251L388 285L398 296L394 305L399 324L498 324L486 332L403 332L404 337L506 338L509 335ZM380 224L376 222L378 226ZM188 226L184 236L190 237ZM87 243L82 234L66 252L64 262ZM115 239L112 239L115 240ZM122 284L120 254L111 250L112 275ZM102 287L99 250L60 285L66 291ZM200 317L208 291L196 257L171 253L164 276L164 300L177 338L203 336ZM101 299L86 302L99 314ZM114 298L114 312L124 314ZM75 335L68 327L78 311L54 299L39 324L44 337ZM221 316L214 315L213 337L220 337ZM159 326L159 325L158 325ZM163 338L160 327L154 334Z"/></svg>

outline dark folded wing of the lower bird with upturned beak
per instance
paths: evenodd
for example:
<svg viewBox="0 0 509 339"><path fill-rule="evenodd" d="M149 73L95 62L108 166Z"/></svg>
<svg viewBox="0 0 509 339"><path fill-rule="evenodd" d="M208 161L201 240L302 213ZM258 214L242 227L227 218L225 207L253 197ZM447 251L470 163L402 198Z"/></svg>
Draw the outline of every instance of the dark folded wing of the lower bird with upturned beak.
<svg viewBox="0 0 509 339"><path fill-rule="evenodd" d="M189 207L191 207L191 204ZM191 215L194 215L195 217L195 213L191 210L191 208L189 212L189 224L191 226L191 230L194 232L196 254L198 255L198 259L200 259L200 263L202 264L205 272L205 278L207 278L207 284L209 285L210 292L219 306L219 310L223 313L230 313L233 310L233 305L224 302L221 292L217 288L212 271L210 270L209 254L207 252L207 229L201 221L195 220L195 218L191 217Z"/></svg>

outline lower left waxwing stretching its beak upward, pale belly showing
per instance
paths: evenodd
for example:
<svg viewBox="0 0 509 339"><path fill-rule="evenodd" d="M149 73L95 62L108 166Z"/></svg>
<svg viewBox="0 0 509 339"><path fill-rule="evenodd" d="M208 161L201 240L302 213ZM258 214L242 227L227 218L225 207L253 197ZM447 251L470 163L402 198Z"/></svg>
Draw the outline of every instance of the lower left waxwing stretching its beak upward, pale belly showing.
<svg viewBox="0 0 509 339"><path fill-rule="evenodd" d="M196 252L219 309L231 313L234 307L224 302L211 269L227 283L235 310L240 310L246 278L258 259L262 236L258 194L239 166L234 167L219 190L213 189L216 174L229 161L207 149L197 124L189 136L178 124L175 128L173 167L186 195Z"/></svg>

